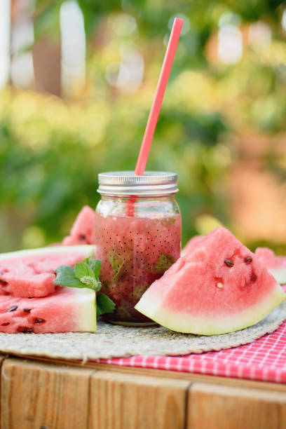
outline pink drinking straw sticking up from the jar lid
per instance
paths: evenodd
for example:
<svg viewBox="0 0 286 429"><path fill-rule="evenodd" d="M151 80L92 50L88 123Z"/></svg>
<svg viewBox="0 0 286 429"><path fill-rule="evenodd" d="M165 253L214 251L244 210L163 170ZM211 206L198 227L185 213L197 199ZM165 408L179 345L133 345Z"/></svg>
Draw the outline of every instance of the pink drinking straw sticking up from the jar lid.
<svg viewBox="0 0 286 429"><path fill-rule="evenodd" d="M147 126L144 132L144 137L142 140L139 156L137 159L135 175L140 175L140 176L144 175L152 139L154 136L154 131L157 125L158 116L160 113L163 97L165 94L165 89L166 89L170 71L172 68L172 62L175 57L175 52L177 49L177 44L179 41L179 35L181 34L183 22L184 20L180 18L175 18L174 24L172 26L172 32L171 32L169 43L165 53L165 58L163 61L161 74L158 80L155 97L153 100L153 104L151 106L151 111L149 114Z"/></svg>

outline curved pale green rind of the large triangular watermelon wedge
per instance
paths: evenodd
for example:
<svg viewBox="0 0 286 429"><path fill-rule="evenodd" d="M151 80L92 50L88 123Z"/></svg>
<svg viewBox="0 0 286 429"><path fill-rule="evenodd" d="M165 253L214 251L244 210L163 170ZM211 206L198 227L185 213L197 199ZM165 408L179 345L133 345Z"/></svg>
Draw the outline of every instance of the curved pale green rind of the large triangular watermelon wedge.
<svg viewBox="0 0 286 429"><path fill-rule="evenodd" d="M220 335L229 332L239 331L252 325L256 325L266 315L271 313L278 305L285 301L286 294L280 285L273 287L273 290L264 298L263 302L251 306L245 311L240 311L237 315L223 315L220 318L192 317L182 312L174 313L170 308L162 308L161 301L156 302L156 298L145 292L135 309L146 315L159 325L167 327L175 332L197 335ZM161 309L159 309L161 307Z"/></svg>

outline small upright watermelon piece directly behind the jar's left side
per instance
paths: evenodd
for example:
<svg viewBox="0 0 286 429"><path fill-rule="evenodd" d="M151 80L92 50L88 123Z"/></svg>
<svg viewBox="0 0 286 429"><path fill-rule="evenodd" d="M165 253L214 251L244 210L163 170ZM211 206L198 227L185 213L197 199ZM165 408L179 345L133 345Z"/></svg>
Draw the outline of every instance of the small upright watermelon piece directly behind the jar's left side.
<svg viewBox="0 0 286 429"><path fill-rule="evenodd" d="M95 244L95 211L85 205L74 221L69 236L62 240L66 246Z"/></svg>

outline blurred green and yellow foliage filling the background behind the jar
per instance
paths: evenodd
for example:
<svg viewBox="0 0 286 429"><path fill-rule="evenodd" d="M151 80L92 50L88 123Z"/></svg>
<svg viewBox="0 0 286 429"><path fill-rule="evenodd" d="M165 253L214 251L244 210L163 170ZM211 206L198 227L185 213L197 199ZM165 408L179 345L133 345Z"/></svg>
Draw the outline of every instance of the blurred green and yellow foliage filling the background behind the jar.
<svg viewBox="0 0 286 429"><path fill-rule="evenodd" d="M62 3L36 1L36 40L45 36L59 42ZM217 219L230 226L226 173L238 154L229 136L243 128L269 135L285 129L283 3L79 0L88 41L83 92L69 100L15 88L1 93L0 250L62 240L81 206L97 204L98 172L135 167L165 53L163 40L178 14L189 28L179 41L147 167L179 173L183 244ZM114 19L123 13L136 20L132 34L114 32ZM242 27L267 22L271 43L247 46L234 65L212 60L210 43L223 15L240 20ZM129 92L106 79L122 50L144 57L144 81ZM264 158L267 168L285 175L285 163L271 153Z"/></svg>

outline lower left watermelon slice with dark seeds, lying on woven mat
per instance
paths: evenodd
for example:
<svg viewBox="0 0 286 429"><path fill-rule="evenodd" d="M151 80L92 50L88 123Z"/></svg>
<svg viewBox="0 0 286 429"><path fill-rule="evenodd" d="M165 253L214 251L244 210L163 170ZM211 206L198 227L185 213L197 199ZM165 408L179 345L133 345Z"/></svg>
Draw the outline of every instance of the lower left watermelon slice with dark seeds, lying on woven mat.
<svg viewBox="0 0 286 429"><path fill-rule="evenodd" d="M60 287L48 297L0 297L0 332L95 332L95 292Z"/></svg>

